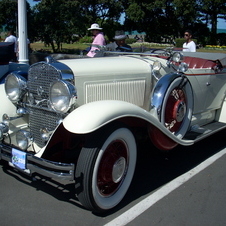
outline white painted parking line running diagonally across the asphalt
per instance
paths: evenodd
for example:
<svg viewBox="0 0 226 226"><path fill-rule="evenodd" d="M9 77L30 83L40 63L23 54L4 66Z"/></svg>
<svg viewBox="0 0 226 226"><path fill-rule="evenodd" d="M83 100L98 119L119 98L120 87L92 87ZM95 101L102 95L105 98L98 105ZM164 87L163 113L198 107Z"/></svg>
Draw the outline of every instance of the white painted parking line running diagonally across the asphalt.
<svg viewBox="0 0 226 226"><path fill-rule="evenodd" d="M121 214L114 220L110 221L109 223L105 224L105 226L121 226L126 225L129 222L131 222L133 219L138 217L140 214L142 214L145 210L150 208L152 205L154 205L156 202L158 202L160 199L167 196L170 192L184 184L186 181L191 179L193 176L198 174L200 171L207 168L209 165L214 163L217 159L221 158L224 154L226 154L226 148L218 152L217 154L211 156L210 158L206 159L204 162L196 166L195 168L191 169L187 173L175 178L174 180L170 181L165 186L161 187L156 192L149 195L147 198L142 200L141 202L137 203L135 206L127 210L125 213Z"/></svg>

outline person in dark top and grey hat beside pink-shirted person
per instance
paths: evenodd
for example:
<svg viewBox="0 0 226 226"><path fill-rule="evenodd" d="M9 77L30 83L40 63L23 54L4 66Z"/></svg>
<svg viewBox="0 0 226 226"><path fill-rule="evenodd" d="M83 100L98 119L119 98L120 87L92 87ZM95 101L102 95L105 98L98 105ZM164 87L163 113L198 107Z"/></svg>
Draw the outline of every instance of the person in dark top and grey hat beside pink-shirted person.
<svg viewBox="0 0 226 226"><path fill-rule="evenodd" d="M116 31L115 42L107 45L107 49L110 51L118 51L118 52L132 52L132 48L130 45L126 44L126 35L123 31Z"/></svg>

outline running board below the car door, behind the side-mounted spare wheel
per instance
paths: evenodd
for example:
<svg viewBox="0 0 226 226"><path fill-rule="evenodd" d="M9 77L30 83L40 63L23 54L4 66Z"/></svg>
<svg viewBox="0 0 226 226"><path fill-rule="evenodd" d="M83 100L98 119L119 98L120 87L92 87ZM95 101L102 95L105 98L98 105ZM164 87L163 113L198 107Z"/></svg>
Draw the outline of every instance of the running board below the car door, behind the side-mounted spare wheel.
<svg viewBox="0 0 226 226"><path fill-rule="evenodd" d="M193 140L197 142L225 128L226 123L222 122L213 122L202 127L194 125L182 140Z"/></svg>

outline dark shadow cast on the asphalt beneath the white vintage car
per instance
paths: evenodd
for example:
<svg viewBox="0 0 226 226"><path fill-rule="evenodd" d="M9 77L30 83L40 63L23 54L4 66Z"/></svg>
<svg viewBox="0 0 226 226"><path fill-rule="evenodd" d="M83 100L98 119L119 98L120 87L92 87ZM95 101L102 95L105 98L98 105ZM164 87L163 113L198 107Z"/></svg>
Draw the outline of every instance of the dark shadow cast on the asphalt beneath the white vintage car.
<svg viewBox="0 0 226 226"><path fill-rule="evenodd" d="M138 146L138 161L134 179L125 198L113 210L104 214L93 214L106 217L117 211L124 211L123 209L128 208L133 201L155 191L225 148L225 138L226 130L223 130L193 146L178 146L169 152L157 150L150 141L141 143ZM73 181L52 180L37 175L29 177L15 171L4 162L0 162L0 166L6 174L22 183L84 209L75 197Z"/></svg>

